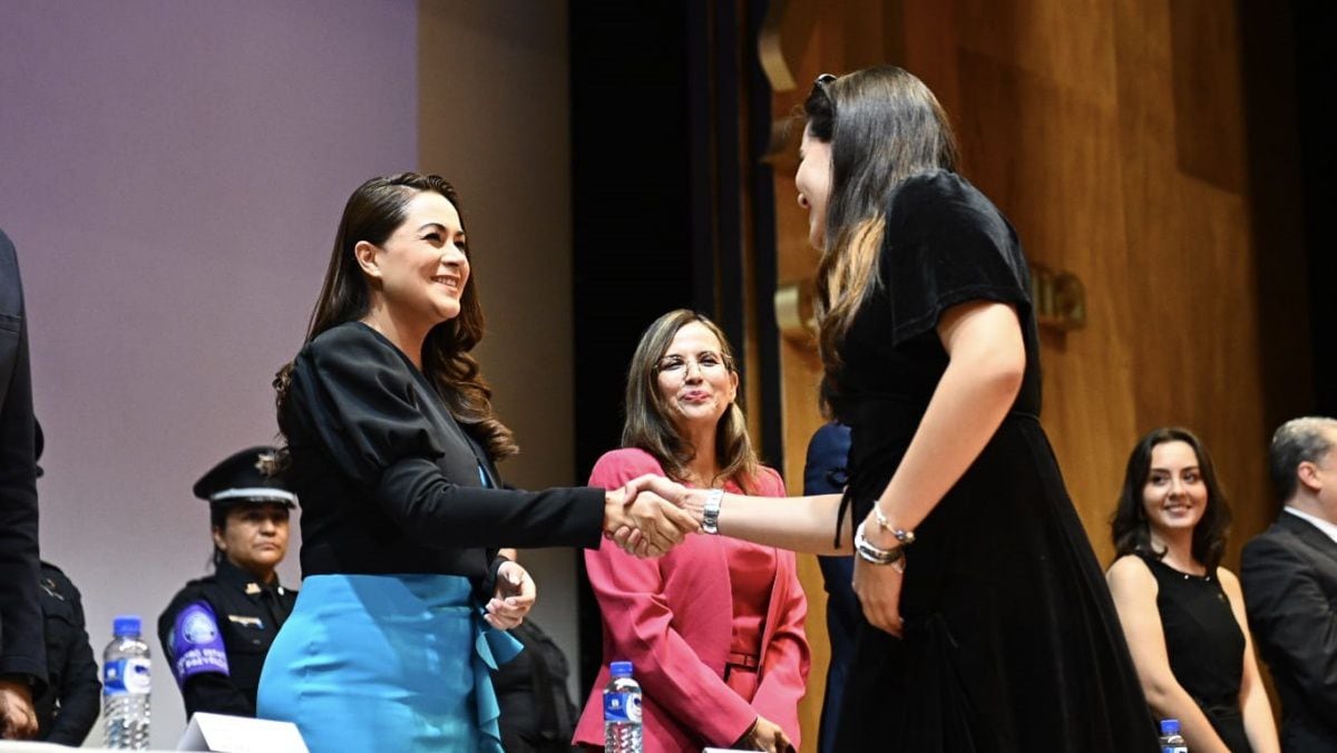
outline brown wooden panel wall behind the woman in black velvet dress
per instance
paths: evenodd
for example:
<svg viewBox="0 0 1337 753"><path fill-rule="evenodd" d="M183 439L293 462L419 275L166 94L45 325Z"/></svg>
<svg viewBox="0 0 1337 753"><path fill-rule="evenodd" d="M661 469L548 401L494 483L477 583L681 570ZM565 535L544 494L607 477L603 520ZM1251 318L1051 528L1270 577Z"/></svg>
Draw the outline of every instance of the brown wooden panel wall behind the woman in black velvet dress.
<svg viewBox="0 0 1337 753"><path fill-rule="evenodd" d="M1308 358L1263 383L1241 29L1214 0L904 0L777 3L767 60L773 115L789 115L820 72L890 62L939 95L964 174L1016 226L1032 263L1075 273L1087 326L1043 334L1044 425L1102 564L1108 516L1135 439L1191 428L1213 451L1235 511L1226 566L1273 518L1267 405L1309 389ZM779 282L809 278L806 215L792 147L777 158ZM1285 318L1285 317L1284 317ZM1304 329L1304 314L1284 322ZM1270 333L1267 334L1270 337ZM1302 341L1302 340L1297 340ZM1273 350L1269 350L1273 352ZM800 479L821 424L810 346L783 350L786 476ZM1292 404L1294 404L1294 400ZM1273 411L1275 412L1275 411ZM812 558L808 558L812 559ZM825 638L821 576L802 575L814 645ZM817 649L824 669L825 646ZM805 729L816 730L821 671ZM810 726L809 726L810 725Z"/></svg>

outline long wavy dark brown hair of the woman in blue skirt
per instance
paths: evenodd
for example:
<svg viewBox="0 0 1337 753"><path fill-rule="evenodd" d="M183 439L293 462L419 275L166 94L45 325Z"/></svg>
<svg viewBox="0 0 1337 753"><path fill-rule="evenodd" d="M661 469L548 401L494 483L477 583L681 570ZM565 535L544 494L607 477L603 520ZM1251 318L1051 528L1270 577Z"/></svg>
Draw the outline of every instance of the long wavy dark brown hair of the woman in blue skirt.
<svg viewBox="0 0 1337 753"><path fill-rule="evenodd" d="M441 194L460 211L460 197L440 175L401 173L386 178L372 178L349 197L334 237L334 250L325 272L321 294L312 310L306 328L306 342L322 332L366 316L372 304L370 286L353 254L353 246L366 241L382 245L404 223L406 207L413 197L431 191ZM465 234L465 255L469 254ZM422 344L422 373L441 396L455 420L487 449L493 460L519 452L515 437L492 412L492 389L479 373L479 364L469 356L483 340L483 305L479 302L477 272L471 269L469 282L460 296L460 313L432 328ZM283 405L291 381L293 364L287 362L274 376L278 427L285 435ZM281 464L281 463L279 463Z"/></svg>

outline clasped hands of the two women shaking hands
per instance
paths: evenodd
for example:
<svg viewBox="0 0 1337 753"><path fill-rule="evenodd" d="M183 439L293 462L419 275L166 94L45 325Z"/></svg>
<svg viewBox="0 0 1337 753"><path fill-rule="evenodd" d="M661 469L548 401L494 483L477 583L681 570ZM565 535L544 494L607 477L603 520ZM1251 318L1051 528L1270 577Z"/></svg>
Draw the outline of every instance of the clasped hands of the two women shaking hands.
<svg viewBox="0 0 1337 753"><path fill-rule="evenodd" d="M699 498L663 476L638 476L604 495L603 535L627 554L660 556L701 532ZM698 502L698 506L693 506Z"/></svg>

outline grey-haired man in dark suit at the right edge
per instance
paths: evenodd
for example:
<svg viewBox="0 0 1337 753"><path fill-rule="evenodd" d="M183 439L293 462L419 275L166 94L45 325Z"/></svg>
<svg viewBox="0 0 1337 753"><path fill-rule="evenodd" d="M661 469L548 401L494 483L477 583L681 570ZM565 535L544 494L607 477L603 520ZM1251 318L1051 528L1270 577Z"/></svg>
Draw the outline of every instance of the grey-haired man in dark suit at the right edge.
<svg viewBox="0 0 1337 753"><path fill-rule="evenodd" d="M1282 424L1269 468L1285 508L1245 546L1249 626L1281 697L1286 753L1337 750L1337 420Z"/></svg>

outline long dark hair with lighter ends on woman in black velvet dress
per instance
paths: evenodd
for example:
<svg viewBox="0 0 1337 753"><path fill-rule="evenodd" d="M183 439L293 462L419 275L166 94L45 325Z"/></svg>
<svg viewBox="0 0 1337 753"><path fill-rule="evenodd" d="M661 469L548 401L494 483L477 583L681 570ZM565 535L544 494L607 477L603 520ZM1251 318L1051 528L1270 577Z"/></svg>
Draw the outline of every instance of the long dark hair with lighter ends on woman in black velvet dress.
<svg viewBox="0 0 1337 753"><path fill-rule="evenodd" d="M892 191L913 175L956 171L956 136L924 82L894 66L822 76L804 103L812 138L832 150L826 247L817 267L818 345L830 381L837 349L877 289Z"/></svg>

